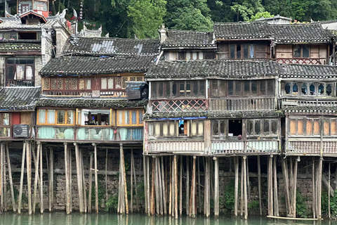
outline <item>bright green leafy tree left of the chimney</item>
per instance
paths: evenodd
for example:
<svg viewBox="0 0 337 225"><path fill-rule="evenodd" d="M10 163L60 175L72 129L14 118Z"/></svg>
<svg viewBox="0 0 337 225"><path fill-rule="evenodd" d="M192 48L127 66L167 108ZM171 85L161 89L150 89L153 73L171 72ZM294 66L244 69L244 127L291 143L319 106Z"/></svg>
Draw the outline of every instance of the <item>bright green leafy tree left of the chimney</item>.
<svg viewBox="0 0 337 225"><path fill-rule="evenodd" d="M131 0L128 17L132 19L131 31L140 39L158 37L158 29L166 14L164 0Z"/></svg>

